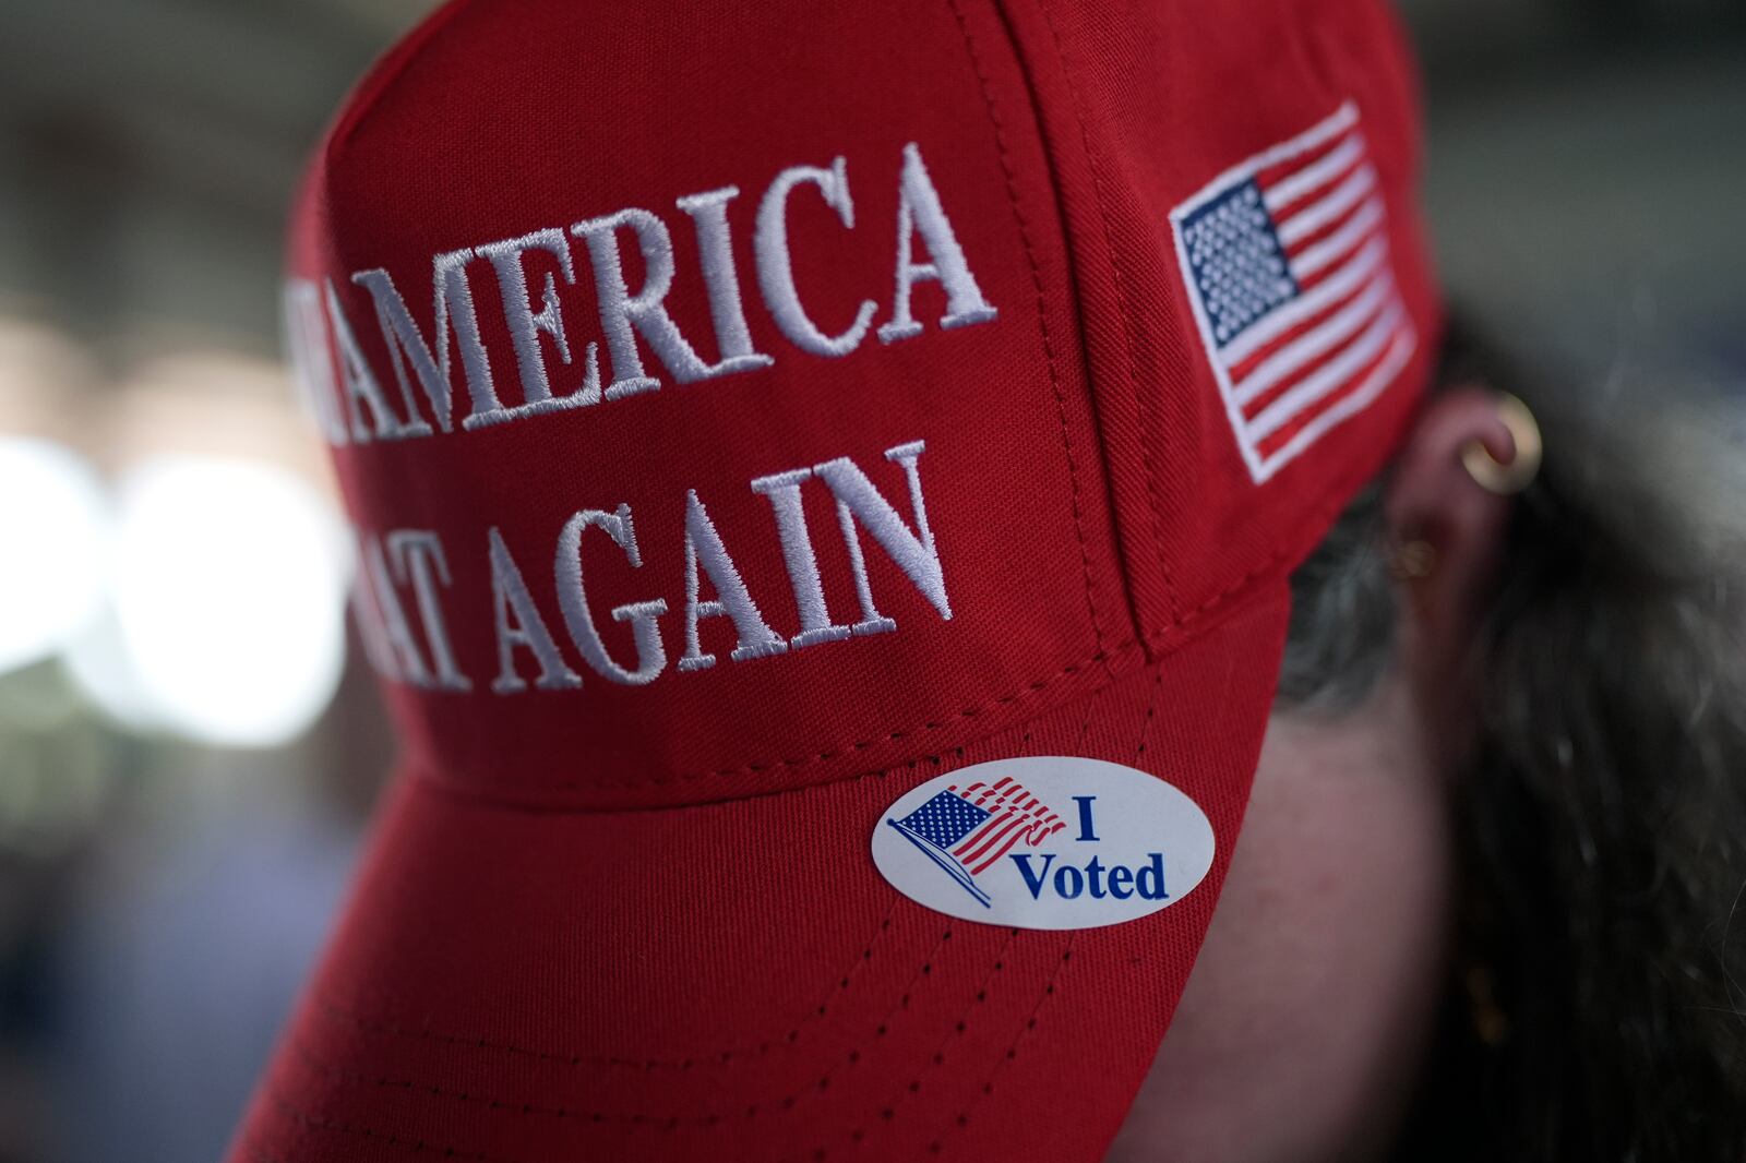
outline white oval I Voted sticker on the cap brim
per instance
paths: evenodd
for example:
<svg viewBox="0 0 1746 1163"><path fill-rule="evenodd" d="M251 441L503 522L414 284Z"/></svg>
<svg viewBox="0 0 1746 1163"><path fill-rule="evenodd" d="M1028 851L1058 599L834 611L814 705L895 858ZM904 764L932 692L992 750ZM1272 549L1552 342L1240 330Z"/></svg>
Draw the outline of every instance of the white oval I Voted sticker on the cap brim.
<svg viewBox="0 0 1746 1163"><path fill-rule="evenodd" d="M978 763L920 784L873 829L873 863L950 917L1095 929L1180 901L1212 868L1212 822L1131 767L1070 756Z"/></svg>

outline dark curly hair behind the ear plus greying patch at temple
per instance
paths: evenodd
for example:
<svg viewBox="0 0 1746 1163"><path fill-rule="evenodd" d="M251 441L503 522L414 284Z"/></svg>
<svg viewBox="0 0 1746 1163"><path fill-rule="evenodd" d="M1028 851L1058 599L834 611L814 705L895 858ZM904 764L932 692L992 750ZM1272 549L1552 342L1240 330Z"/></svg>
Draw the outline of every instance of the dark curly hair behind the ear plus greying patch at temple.
<svg viewBox="0 0 1746 1163"><path fill-rule="evenodd" d="M1465 321L1439 382L1517 395L1547 452L1465 660L1456 955L1395 1158L1746 1160L1739 410L1528 372ZM1339 714L1392 660L1381 494L1292 578L1285 707Z"/></svg>

